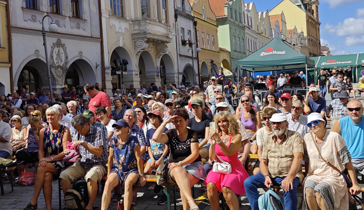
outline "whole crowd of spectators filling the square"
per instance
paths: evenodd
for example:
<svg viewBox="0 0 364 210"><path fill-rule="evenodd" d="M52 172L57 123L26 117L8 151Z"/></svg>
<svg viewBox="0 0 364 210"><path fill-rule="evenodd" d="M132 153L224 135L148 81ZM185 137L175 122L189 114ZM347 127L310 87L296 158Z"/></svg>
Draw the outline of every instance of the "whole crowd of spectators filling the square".
<svg viewBox="0 0 364 210"><path fill-rule="evenodd" d="M363 105L349 100L350 93L355 97L355 88L341 73L332 75L337 79L326 88L330 79L321 71L319 88L311 84L306 95L279 89L284 84L305 87L303 72L258 81L243 77L233 83L222 69L202 85L158 88L151 83L149 90L141 85L138 91L122 85L113 96L99 90L98 84L86 84L81 94L65 88L60 95L55 92L53 101L45 90L27 98L22 89L1 96L0 157L13 155L24 161L17 167L18 175L35 166L34 193L24 210L37 209L42 190L51 209L52 180L60 179L66 194L79 178L87 182L85 209L92 210L97 183L105 175L101 210L122 195L124 209L130 209L138 204L136 195L146 185L145 175L153 175L162 162L168 163L168 180L177 184L183 209L199 209L191 193L198 183L207 190L213 210L219 208L219 193L232 210L239 209L239 195L244 194L258 210L257 189L270 185L282 186L286 210L297 208L299 185L304 186L306 209L348 209L355 206L349 194L361 192L355 171L364 175ZM357 91L363 78L360 81ZM265 84L264 98L254 97L252 83ZM329 106L325 90L333 93ZM230 98L235 94L236 108ZM65 161L70 146L79 147L76 162ZM252 176L247 172L249 153L258 156ZM214 171L214 163L230 164L231 173ZM347 185L344 170L352 186ZM19 185L18 179L14 185ZM151 183L145 190L158 193L161 188ZM157 204L166 200L163 194Z"/></svg>

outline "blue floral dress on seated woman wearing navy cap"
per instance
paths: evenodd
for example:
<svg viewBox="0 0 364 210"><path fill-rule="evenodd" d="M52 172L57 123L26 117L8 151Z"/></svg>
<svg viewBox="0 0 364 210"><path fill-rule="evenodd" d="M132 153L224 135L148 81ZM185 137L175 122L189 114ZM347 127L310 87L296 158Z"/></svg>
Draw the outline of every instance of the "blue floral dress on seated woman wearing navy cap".
<svg viewBox="0 0 364 210"><path fill-rule="evenodd" d="M117 135L111 137L109 145L113 149L113 169L110 173L116 173L120 187L124 186L124 180L131 173L139 174L134 148L139 144L138 139L131 135L125 144L119 144Z"/></svg>

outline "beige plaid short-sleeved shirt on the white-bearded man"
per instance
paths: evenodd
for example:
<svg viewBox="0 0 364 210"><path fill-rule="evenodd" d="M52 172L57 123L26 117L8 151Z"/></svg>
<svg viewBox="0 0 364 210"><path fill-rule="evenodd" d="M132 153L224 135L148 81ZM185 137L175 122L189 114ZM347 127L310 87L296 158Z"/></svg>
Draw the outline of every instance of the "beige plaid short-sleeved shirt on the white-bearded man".
<svg viewBox="0 0 364 210"><path fill-rule="evenodd" d="M303 139L296 131L287 130L284 138L278 143L277 136L272 134L263 143L262 159L268 160L268 170L271 177L286 177L293 163L293 154L301 152L303 155ZM301 163L296 177L300 183L304 178Z"/></svg>

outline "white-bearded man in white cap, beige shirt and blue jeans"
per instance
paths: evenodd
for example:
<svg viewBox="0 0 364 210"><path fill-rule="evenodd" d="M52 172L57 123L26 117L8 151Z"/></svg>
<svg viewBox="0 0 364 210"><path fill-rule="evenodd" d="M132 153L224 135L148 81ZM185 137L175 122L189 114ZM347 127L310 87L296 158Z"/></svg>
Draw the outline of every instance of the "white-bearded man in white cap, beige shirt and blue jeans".
<svg viewBox="0 0 364 210"><path fill-rule="evenodd" d="M244 187L252 210L258 210L258 188L282 186L284 209L297 209L296 190L303 181L303 140L296 131L288 130L287 116L273 114L270 119L273 135L264 141L260 172L248 177Z"/></svg>

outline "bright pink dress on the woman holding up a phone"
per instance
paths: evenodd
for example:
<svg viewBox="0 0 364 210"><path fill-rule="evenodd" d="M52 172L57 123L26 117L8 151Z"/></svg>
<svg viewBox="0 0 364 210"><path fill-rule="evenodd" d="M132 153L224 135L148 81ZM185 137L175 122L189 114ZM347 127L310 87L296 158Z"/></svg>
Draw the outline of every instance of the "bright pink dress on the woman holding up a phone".
<svg viewBox="0 0 364 210"><path fill-rule="evenodd" d="M231 135L229 141L230 143L232 141ZM229 145L226 146L229 147ZM218 144L216 144L215 152L222 160L232 165L232 172L230 174L219 174L211 170L206 177L205 180L206 185L209 182L213 182L215 183L220 193L222 192L221 191L222 187L225 186L232 189L232 191L237 195L244 195L245 194L244 180L247 179L249 175L248 172L245 170L244 166L240 163L238 159L238 152L236 152L231 156L225 156ZM216 161L220 162L218 158L216 158Z"/></svg>

